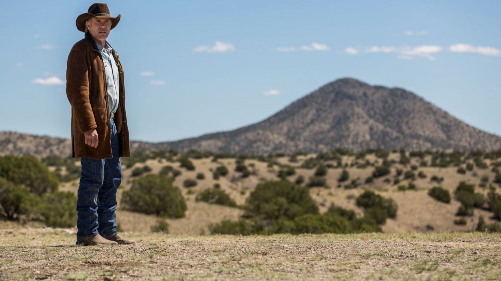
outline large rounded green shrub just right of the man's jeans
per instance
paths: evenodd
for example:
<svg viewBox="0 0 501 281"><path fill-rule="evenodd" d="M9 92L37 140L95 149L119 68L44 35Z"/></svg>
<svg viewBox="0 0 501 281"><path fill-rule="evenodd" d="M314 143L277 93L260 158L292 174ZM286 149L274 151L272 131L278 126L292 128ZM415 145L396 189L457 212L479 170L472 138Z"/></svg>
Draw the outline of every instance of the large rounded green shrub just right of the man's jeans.
<svg viewBox="0 0 501 281"><path fill-rule="evenodd" d="M130 190L122 194L126 209L167 217L183 217L186 210L179 187L165 175L148 174L135 179Z"/></svg>

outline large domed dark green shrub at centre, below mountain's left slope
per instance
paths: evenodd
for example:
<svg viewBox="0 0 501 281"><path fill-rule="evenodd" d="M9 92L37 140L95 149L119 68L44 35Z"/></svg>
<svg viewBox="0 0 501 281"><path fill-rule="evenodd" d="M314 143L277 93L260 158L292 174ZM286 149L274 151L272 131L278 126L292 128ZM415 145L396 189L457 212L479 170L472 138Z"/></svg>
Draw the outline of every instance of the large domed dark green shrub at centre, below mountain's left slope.
<svg viewBox="0 0 501 281"><path fill-rule="evenodd" d="M290 181L267 181L260 183L247 198L250 215L263 216L266 219L318 214L318 206L310 196L308 187L296 185Z"/></svg>

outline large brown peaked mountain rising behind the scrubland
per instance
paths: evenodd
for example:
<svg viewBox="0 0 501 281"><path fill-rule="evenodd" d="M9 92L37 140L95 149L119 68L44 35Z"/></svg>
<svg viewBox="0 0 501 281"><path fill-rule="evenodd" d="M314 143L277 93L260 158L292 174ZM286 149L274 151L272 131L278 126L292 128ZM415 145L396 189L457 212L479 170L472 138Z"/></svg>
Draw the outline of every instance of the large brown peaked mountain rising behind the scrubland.
<svg viewBox="0 0 501 281"><path fill-rule="evenodd" d="M139 149L173 148L232 153L501 148L501 137L474 128L402 88L343 78L328 83L271 117L235 130Z"/></svg>

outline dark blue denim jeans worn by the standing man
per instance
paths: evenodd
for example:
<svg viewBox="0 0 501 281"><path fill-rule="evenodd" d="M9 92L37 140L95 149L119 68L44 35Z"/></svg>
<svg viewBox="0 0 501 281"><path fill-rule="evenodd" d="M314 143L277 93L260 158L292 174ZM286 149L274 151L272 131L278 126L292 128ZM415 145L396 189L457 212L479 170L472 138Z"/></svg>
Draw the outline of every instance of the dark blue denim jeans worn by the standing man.
<svg viewBox="0 0 501 281"><path fill-rule="evenodd" d="M111 159L80 158L82 176L78 187L77 237L117 234L117 189L122 182L122 165L118 152L118 134L115 122L112 128Z"/></svg>

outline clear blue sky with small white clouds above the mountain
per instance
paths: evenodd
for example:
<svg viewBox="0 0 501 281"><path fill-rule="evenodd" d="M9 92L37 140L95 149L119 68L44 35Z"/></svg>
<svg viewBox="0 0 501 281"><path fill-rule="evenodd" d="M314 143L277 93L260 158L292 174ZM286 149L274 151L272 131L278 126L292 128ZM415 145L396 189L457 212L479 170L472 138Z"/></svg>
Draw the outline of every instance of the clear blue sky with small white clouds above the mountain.
<svg viewBox="0 0 501 281"><path fill-rule="evenodd" d="M0 130L70 138L66 60L93 1L2 1ZM402 87L501 135L501 1L108 1L131 138L265 119L342 77Z"/></svg>

